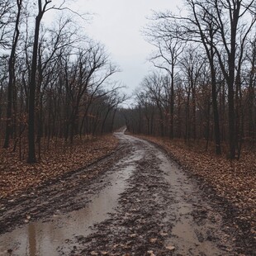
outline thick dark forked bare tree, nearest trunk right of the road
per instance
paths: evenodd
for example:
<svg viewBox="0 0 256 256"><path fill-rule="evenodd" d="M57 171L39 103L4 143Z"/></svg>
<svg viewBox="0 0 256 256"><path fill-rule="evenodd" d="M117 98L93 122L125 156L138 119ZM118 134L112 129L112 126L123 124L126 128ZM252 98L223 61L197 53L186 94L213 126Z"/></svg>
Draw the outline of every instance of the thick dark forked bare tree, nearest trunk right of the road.
<svg viewBox="0 0 256 256"><path fill-rule="evenodd" d="M210 54L216 55L220 64L220 68L224 74L225 81L228 86L228 102L229 102L229 144L230 159L236 156L236 120L235 118L235 80L239 81L239 70L241 67L241 59L244 55L244 40L246 40L255 24L256 16L254 10L254 1L193 1L187 0L192 7L193 16L197 27L201 28L201 22L207 22L210 25L210 40L206 41L206 45L210 45ZM252 13L251 21L243 21L243 17L247 13ZM202 16L199 17L200 13ZM201 39L207 35L205 30L200 31ZM238 40L238 36L240 40ZM240 46L239 58L237 58L238 47ZM209 53L207 53L209 55ZM209 58L208 58L209 59ZM227 61L227 65L225 64ZM237 68L237 73L235 69ZM239 82L237 82L239 83Z"/></svg>

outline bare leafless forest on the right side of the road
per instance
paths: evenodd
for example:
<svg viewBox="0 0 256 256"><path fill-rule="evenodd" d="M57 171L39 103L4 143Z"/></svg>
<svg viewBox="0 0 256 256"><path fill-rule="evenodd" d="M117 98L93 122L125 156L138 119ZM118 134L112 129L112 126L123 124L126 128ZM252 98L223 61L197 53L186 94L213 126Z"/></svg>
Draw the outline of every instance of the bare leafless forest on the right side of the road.
<svg viewBox="0 0 256 256"><path fill-rule="evenodd" d="M155 12L145 27L156 69L140 83L127 127L239 159L243 147L255 149L255 2L186 3L186 16Z"/></svg>

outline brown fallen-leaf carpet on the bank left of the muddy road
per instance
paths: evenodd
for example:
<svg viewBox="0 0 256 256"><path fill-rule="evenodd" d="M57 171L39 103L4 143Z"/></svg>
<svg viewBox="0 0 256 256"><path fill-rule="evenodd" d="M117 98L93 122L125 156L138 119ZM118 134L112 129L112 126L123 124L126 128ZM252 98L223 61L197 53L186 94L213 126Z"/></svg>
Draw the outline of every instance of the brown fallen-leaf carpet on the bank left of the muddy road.
<svg viewBox="0 0 256 256"><path fill-rule="evenodd" d="M47 180L84 168L113 152L117 143L118 140L112 135L78 140L72 146L59 143L57 149L45 150L40 163L33 165L20 161L18 153L0 149L0 199L21 194ZM88 175L81 175L81 178L88 178Z"/></svg>

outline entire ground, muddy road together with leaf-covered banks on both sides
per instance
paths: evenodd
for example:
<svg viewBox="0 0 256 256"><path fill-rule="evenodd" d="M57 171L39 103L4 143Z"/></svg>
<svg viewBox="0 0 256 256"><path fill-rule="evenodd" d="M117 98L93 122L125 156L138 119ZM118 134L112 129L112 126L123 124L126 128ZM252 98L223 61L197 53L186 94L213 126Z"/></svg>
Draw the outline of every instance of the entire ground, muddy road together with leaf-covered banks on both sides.
<svg viewBox="0 0 256 256"><path fill-rule="evenodd" d="M32 167L1 151L0 255L255 255L253 159L116 136Z"/></svg>

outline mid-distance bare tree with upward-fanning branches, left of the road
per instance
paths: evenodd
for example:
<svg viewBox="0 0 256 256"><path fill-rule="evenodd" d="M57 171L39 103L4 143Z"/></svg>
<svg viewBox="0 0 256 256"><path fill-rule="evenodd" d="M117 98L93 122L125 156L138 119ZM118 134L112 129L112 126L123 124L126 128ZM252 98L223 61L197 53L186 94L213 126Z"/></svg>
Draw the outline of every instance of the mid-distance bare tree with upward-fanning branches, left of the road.
<svg viewBox="0 0 256 256"><path fill-rule="evenodd" d="M91 42L88 48L80 50L78 59L73 62L72 66L68 66L68 59L65 60L65 86L68 92L67 124L65 139L73 142L74 128L78 119L78 112L81 103L85 101L86 109L81 126L88 113L88 107L92 103L93 98L101 89L102 84L107 81L117 69L112 65L100 44ZM104 93L105 94L105 93Z"/></svg>

